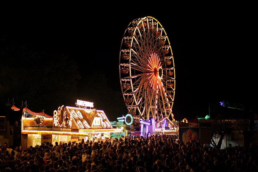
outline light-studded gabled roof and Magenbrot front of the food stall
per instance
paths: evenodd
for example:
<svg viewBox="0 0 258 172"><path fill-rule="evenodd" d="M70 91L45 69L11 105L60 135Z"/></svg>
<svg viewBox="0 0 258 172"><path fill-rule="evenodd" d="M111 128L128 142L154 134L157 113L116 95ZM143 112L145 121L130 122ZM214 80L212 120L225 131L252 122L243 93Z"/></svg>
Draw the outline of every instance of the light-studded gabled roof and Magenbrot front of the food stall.
<svg viewBox="0 0 258 172"><path fill-rule="evenodd" d="M62 131L71 130L84 135L85 139L110 137L110 133L122 132L121 128L113 128L103 110L59 107L54 111L54 128ZM76 138L75 138L76 139Z"/></svg>

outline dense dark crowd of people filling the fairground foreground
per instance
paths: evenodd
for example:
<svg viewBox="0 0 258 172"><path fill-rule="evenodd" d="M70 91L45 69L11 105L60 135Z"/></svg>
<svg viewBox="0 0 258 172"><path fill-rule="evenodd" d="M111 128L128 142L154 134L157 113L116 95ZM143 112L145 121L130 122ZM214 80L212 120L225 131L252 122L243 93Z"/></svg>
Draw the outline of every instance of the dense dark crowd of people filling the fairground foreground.
<svg viewBox="0 0 258 172"><path fill-rule="evenodd" d="M258 171L257 149L229 145L220 150L176 135L105 138L78 142L44 142L9 148L4 143L1 172L206 172Z"/></svg>

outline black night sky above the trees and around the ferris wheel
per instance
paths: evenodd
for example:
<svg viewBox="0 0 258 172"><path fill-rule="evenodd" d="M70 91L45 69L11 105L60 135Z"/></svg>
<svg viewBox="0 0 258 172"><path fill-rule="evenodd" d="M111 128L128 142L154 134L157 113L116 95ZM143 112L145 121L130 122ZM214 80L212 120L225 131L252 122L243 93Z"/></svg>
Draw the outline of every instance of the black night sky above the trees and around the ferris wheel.
<svg viewBox="0 0 258 172"><path fill-rule="evenodd" d="M69 54L79 65L82 78L94 70L105 72L108 86L121 92L119 49L124 32L136 18L156 18L172 46L176 76L172 110L175 119L182 120L206 116L209 102L225 100L257 107L253 14L239 8L181 6L164 12L151 8L126 12L121 8L115 12L98 9L94 14L34 11L10 17L12 20L2 26L7 34L36 48L47 45Z"/></svg>

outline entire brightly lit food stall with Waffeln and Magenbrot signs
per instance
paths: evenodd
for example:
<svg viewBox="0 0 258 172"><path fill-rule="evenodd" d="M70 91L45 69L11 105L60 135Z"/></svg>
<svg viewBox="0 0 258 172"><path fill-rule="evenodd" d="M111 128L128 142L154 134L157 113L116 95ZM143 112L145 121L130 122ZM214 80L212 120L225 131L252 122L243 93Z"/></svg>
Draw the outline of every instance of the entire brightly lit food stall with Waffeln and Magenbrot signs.
<svg viewBox="0 0 258 172"><path fill-rule="evenodd" d="M79 103L81 104L78 105ZM40 145L44 141L54 143L79 141L82 138L104 139L104 137L110 137L110 133L123 131L121 128L112 128L104 111L86 109L88 105L86 103L86 101L77 101L79 107L62 105L54 111L52 118L46 118L40 114L30 118L22 117L22 146L26 148Z"/></svg>

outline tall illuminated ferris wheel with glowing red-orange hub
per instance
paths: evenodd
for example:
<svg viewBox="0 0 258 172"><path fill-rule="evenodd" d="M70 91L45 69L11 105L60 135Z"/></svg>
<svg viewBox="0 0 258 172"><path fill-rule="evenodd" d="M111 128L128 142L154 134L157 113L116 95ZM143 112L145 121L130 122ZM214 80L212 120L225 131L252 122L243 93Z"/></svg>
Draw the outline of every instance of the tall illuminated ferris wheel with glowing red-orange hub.
<svg viewBox="0 0 258 172"><path fill-rule="evenodd" d="M144 17L127 27L120 46L120 84L129 114L145 120L172 116L175 95L173 53L158 20Z"/></svg>

